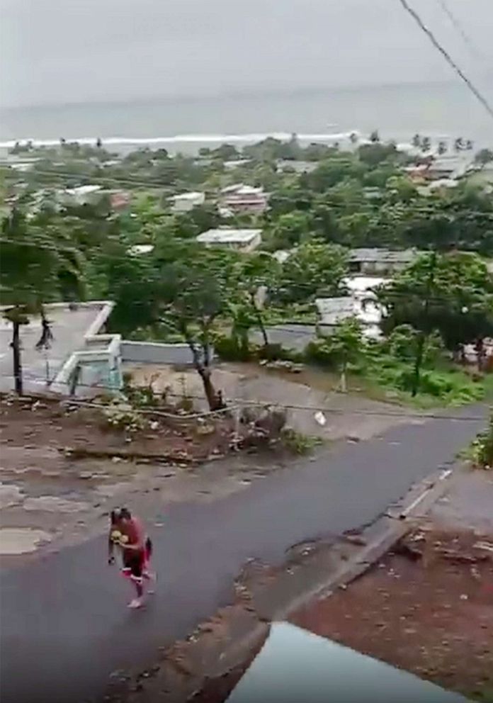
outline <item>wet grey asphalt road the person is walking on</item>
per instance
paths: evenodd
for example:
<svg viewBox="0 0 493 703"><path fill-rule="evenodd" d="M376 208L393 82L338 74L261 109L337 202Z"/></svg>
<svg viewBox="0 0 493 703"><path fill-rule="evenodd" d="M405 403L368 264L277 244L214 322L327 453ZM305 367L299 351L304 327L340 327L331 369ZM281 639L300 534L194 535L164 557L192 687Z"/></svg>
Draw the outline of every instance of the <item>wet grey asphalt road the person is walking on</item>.
<svg viewBox="0 0 493 703"><path fill-rule="evenodd" d="M297 461L223 500L174 505L164 527L150 530L160 583L141 611L125 607L129 585L106 566L103 536L4 571L2 703L99 699L113 670L151 663L159 646L227 604L247 558L277 563L293 544L373 521L453 461L482 424L403 425Z"/></svg>

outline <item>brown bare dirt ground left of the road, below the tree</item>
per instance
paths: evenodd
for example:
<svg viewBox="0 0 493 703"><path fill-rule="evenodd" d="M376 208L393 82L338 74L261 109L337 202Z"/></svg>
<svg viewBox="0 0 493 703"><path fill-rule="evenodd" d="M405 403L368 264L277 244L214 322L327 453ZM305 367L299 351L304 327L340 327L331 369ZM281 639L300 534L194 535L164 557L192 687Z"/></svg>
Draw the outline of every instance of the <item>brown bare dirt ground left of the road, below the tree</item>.
<svg viewBox="0 0 493 703"><path fill-rule="evenodd" d="M285 464L229 451L227 422L200 434L159 422L130 437L91 411L58 403L0 406L0 554L3 567L101 534L115 505L162 523L173 502L206 502L244 490ZM85 456L87 450L93 454Z"/></svg>

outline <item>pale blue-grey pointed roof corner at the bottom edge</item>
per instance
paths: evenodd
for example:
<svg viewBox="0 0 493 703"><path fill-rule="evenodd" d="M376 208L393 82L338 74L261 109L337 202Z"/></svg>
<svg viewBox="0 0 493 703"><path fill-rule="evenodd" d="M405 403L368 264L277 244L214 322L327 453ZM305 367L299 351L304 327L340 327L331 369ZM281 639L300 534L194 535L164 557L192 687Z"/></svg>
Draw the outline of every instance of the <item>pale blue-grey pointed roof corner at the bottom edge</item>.
<svg viewBox="0 0 493 703"><path fill-rule="evenodd" d="M466 703L462 696L285 622L227 703Z"/></svg>

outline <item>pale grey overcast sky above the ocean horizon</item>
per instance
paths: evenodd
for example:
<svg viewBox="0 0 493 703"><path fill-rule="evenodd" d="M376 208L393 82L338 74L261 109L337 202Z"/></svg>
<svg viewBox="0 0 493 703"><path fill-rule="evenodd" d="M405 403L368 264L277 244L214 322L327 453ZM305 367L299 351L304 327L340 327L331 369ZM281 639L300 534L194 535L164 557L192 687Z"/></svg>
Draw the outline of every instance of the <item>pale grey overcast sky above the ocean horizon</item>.
<svg viewBox="0 0 493 703"><path fill-rule="evenodd" d="M409 0L469 74L493 0ZM453 79L399 0L0 0L2 106ZM493 82L493 79L492 79Z"/></svg>

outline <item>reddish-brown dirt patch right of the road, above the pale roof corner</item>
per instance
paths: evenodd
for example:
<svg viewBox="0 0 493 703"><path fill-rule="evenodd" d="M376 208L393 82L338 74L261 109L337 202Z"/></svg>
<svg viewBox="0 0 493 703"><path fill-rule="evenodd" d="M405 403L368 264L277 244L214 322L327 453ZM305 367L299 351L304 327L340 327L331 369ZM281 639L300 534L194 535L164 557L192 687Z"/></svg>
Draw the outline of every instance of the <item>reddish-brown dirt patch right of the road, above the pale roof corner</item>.
<svg viewBox="0 0 493 703"><path fill-rule="evenodd" d="M493 701L493 540L431 524L292 622L480 701Z"/></svg>

